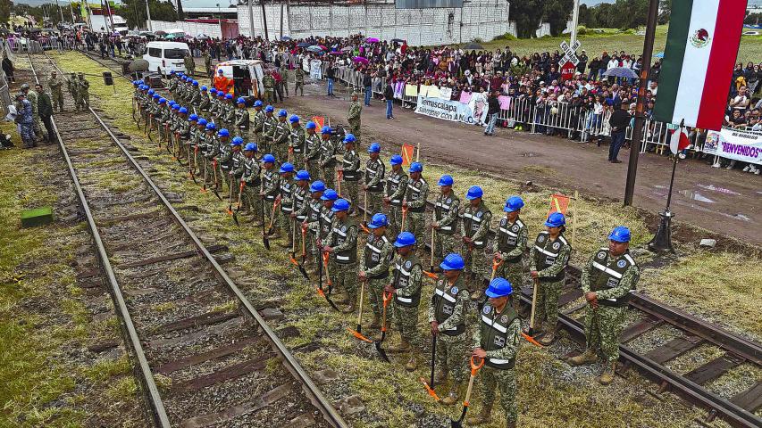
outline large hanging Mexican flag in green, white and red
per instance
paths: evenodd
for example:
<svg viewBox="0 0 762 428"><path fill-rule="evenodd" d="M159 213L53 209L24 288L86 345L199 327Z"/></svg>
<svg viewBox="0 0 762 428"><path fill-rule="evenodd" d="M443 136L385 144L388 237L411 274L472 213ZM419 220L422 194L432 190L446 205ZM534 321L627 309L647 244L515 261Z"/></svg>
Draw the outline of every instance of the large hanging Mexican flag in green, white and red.
<svg viewBox="0 0 762 428"><path fill-rule="evenodd" d="M746 0L673 0L654 119L720 129Z"/></svg>

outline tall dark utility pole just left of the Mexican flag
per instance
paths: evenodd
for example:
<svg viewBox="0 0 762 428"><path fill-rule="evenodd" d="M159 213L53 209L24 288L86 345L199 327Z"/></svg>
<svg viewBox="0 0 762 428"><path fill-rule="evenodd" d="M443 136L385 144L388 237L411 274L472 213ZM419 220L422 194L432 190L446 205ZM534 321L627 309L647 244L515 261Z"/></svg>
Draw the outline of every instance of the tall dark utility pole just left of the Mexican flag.
<svg viewBox="0 0 762 428"><path fill-rule="evenodd" d="M646 91L649 85L651 57L654 53L654 37L657 30L658 0L649 0L649 17L646 21L646 37L643 40L643 65L641 81L638 86L638 103L635 107L635 127L632 128L632 145L630 160L627 162L627 182L624 185L624 206L632 205L632 195L635 193L635 176L638 174L638 156L641 154L643 125L646 118L643 115L646 105Z"/></svg>

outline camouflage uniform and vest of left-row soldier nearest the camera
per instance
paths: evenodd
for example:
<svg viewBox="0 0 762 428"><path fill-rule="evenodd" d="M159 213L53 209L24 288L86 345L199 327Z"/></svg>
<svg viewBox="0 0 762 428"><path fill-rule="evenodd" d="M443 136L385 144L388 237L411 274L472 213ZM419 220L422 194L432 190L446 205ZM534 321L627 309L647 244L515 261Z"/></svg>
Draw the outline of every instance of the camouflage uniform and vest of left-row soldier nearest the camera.
<svg viewBox="0 0 762 428"><path fill-rule="evenodd" d="M498 314L490 303L481 309L481 320L473 332L473 349L487 351L487 358L479 377L481 415L489 416L495 402L495 388L500 390L500 407L506 415L507 424L515 424L518 419L516 408L515 357L520 348L519 333L521 321L511 305ZM472 424L469 422L469 424Z"/></svg>

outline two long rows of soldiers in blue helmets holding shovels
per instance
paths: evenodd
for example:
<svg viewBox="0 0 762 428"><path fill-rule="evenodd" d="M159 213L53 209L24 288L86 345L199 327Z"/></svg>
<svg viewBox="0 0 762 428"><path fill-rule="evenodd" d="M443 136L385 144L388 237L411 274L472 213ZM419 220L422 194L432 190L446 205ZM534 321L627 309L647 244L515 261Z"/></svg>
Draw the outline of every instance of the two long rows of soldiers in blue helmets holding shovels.
<svg viewBox="0 0 762 428"><path fill-rule="evenodd" d="M431 221L427 221L429 185L419 162L405 170L401 156L393 155L387 173L380 159L381 146L373 143L361 171L352 134L340 140L341 151L331 140L331 128L323 127L318 136L314 122L303 129L300 119L291 115L287 123L285 110L279 111L276 119L272 106L263 109L259 101L254 104L253 134L247 136L255 141L246 143L244 136L232 136L228 128L218 128L209 111L201 113L206 113L208 120L196 113L188 115L186 107L155 94L140 81L134 83L142 119L155 122L156 128L166 128L163 137L167 140L175 136L175 141L182 143L180 155L184 151L188 157L191 173L194 169L199 175L203 171L204 185L214 183L215 190L222 184L222 189L230 191L230 200L240 197L241 210L252 214L255 226L273 226L271 237L283 237L282 247L290 247L294 254L297 248L304 249L307 268L314 273L325 269L337 302L346 304L343 312L353 312L358 304L364 304L358 301L358 288L367 286L373 319L365 329L377 331L374 340L381 336L385 303L392 302L400 342L388 351L406 354L408 371L417 368L417 355L421 353L417 322L423 276L436 277L431 299L425 301L431 335L439 339L436 383L452 379L442 402L453 405L459 399L470 353L473 358L484 359L485 368L481 372L481 413L470 417L468 424L490 421L497 388L506 424L515 426L515 356L522 331L514 291L521 289L523 266L528 264L537 289L538 337L546 345L554 342L558 297L572 251L564 236L562 213L548 216L546 230L536 236L525 263L528 227L520 217L524 202L519 196L507 199L490 245L492 213L482 201L479 186L468 189L462 204L453 192L453 177L440 177L440 193ZM175 91L180 93L177 87ZM266 154L260 157L260 152ZM339 179L335 180L337 171ZM373 213L362 249L361 225L354 210L359 203L361 177L366 212ZM339 190L342 185L346 192ZM427 230L434 243L431 266L437 266L434 270L440 276L424 272L420 251L416 251L427 242ZM629 241L629 229L617 226L609 235L608 247L596 251L582 271L582 290L589 303L585 317L587 349L568 362L589 364L602 356L605 366L599 382L603 384L614 379L627 297L640 276L628 251ZM486 290L485 283L489 284ZM486 297L482 298L482 292ZM478 313L471 309L471 300L477 300ZM469 329L473 330L470 342Z"/></svg>

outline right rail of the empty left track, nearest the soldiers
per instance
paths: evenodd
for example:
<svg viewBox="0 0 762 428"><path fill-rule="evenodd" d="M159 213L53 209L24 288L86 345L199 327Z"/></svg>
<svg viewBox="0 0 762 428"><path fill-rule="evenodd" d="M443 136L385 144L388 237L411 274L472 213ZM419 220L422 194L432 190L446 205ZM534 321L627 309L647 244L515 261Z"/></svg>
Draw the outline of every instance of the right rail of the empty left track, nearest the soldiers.
<svg viewBox="0 0 762 428"><path fill-rule="evenodd" d="M47 54L46 54L47 57ZM52 59L47 57L49 61L51 61L56 69L61 71L63 73L63 70L61 70L58 67L58 64L56 64ZM167 198L162 193L161 189L157 185L155 185L154 181L151 179L151 177L148 176L146 171L140 167L140 164L138 161L135 160L135 158L132 157L130 152L127 150L127 148L121 144L119 141L119 138L113 135L110 128L108 128L104 121L98 116L96 111L93 110L92 107L89 108L89 111L95 116L98 123L105 129L105 131L108 133L109 136L111 136L113 143L121 150L121 152L125 155L125 157L130 161L132 164L132 167L138 171L140 176L143 177L143 179L146 181L147 185L151 187L151 189L154 191L156 196L162 201L163 205L172 213L172 218L175 220L175 222L182 227L182 229L185 231L185 233L188 235L188 237L191 239L191 241L194 243L194 245L197 248L197 251L200 255L202 255L213 267L214 267L214 274L218 277L224 283L229 289L230 292L232 292L236 299L239 300L245 311L247 312L247 315L250 317L253 317L259 325L260 328L262 328L262 331L267 336L267 339L272 343L272 350L277 352L281 356L281 361L283 362L284 366L289 369L289 372L291 372L294 377L297 378L297 381L299 383L302 383L302 389L305 391L306 395L309 397L310 401L313 403L314 407L317 407L317 409L322 413L322 416L325 418L327 422L329 422L331 425L337 427L337 428L343 428L348 427L349 425L344 420L342 416L339 415L339 412L336 411L336 409L331 405L331 402L325 398L325 396L322 394L322 392L318 389L317 385L314 384L312 379L309 377L309 375L306 373L305 369L299 364L296 358L290 353L290 351L286 348L286 346L281 342L281 339L278 338L278 336L275 334L275 332L272 330L272 328L267 325L267 322L264 320L262 316L259 315L259 312L254 308L254 306L251 304L251 302L247 299L247 297L244 295L243 292L240 291L239 287L233 283L233 281L230 279L230 276L228 276L224 269L220 266L219 263L217 263L217 260L214 259L214 256L211 252L209 252L204 243L201 242L200 239L198 239L198 236L196 233L193 232L193 230L188 226L188 224L185 222L185 220L180 216L180 213L177 212L177 210L174 209L172 206L172 203L167 200Z"/></svg>

